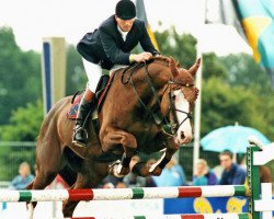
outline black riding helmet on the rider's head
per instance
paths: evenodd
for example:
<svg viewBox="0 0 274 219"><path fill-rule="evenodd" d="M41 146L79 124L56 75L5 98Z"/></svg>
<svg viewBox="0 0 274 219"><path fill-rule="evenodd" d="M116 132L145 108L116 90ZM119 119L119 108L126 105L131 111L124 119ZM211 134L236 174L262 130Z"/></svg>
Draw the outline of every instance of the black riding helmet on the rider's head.
<svg viewBox="0 0 274 219"><path fill-rule="evenodd" d="M115 14L122 20L130 20L136 16L136 8L130 0L121 0L116 4Z"/></svg>

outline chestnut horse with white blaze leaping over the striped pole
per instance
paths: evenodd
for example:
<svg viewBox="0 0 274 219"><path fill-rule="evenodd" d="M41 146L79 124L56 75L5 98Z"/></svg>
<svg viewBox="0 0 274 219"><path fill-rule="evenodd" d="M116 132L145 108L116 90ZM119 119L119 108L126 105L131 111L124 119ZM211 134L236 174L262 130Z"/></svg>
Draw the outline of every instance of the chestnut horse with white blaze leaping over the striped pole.
<svg viewBox="0 0 274 219"><path fill-rule="evenodd" d="M96 187L109 174L123 176L160 175L180 145L192 139L192 112L198 90L194 77L201 59L189 69L170 57L153 57L117 70L106 85L107 94L98 111L99 130L92 119L88 146L72 145L75 120L68 118L72 96L57 102L45 117L36 146L37 174L28 189L44 189L57 174L70 189ZM139 162L132 170L132 158L163 150L155 163ZM117 158L119 158L117 160ZM64 203L65 217L71 217L79 201ZM30 217L36 203L28 204Z"/></svg>

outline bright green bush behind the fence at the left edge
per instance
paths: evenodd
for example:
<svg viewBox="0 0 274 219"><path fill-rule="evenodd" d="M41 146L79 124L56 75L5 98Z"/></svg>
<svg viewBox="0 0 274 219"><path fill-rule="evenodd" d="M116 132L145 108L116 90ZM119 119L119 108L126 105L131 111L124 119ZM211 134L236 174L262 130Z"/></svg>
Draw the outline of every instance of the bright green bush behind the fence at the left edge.
<svg viewBox="0 0 274 219"><path fill-rule="evenodd" d="M35 141L39 126L44 118L43 103L27 103L25 107L19 107L12 112L9 125L0 126L0 139L2 141ZM18 174L19 164L27 161L31 166L35 163L35 147L22 143L11 147L10 143L1 143L0 147L0 180L8 180Z"/></svg>

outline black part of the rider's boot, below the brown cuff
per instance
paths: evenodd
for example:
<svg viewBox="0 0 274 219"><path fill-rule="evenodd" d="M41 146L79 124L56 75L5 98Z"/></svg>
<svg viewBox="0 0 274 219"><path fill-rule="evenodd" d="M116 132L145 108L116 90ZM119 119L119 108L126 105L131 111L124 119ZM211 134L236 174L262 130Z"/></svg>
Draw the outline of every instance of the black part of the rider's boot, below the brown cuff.
<svg viewBox="0 0 274 219"><path fill-rule="evenodd" d="M94 99L94 96L93 96L93 99ZM84 97L82 97L82 100L80 102L80 106L79 106L77 119L76 119L75 132L73 132L73 137L72 137L72 143L75 143L78 147L85 147L87 146L88 131L83 127L84 126L83 123L84 123L89 112L93 111L93 108L94 108L93 102L94 102L94 100L92 100L91 102L87 102L84 100Z"/></svg>

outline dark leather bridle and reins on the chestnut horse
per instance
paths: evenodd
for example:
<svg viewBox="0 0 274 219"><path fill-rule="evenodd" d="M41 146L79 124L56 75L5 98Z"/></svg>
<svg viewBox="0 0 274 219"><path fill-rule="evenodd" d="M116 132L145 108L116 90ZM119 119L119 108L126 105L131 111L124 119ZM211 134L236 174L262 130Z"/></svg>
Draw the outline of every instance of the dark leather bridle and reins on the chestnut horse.
<svg viewBox="0 0 274 219"><path fill-rule="evenodd" d="M172 116L170 116L172 119L169 119L160 111L160 108L161 108L161 99L158 95L157 90L156 90L156 88L155 88L155 85L152 83L151 77L150 77L149 71L148 71L148 65L149 64L147 64L147 62L141 62L141 64L136 64L132 68L126 68L122 73L121 81L122 81L123 84L127 84L127 83L130 82L130 84L133 87L133 90L134 90L136 96L138 97L138 102L142 106L142 108L153 118L153 122L156 123L156 125L161 126L165 134L173 137L176 134L176 131L179 130L179 128L183 125L183 123L186 119L192 119L192 117L193 117L192 113L187 113L185 111L182 111L182 110L179 110L179 108L175 107L175 104L174 104L174 96L175 96L174 91L181 90L182 88L191 88L191 87L194 87L194 84L182 83L182 82L180 82L180 81L178 81L175 79L173 79L173 80L170 79L168 81L167 88L164 89L162 96L169 90L169 112L168 112L168 115L169 114L172 115ZM149 108L145 104L145 102L141 100L141 97L139 96L139 94L138 94L138 92L136 90L135 83L133 81L134 72L136 70L138 70L139 68L141 68L141 67L145 67L146 80L147 80L147 82L149 84L150 91L152 92L153 97L155 97L156 103L157 103L156 106L152 110ZM129 72L129 77L127 78L127 80L124 80L126 72ZM186 115L186 117L180 124L179 124L176 112Z"/></svg>

